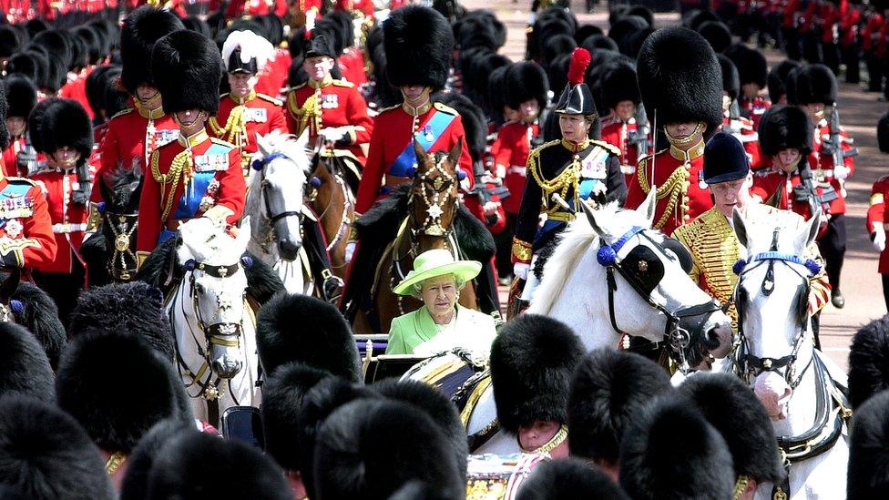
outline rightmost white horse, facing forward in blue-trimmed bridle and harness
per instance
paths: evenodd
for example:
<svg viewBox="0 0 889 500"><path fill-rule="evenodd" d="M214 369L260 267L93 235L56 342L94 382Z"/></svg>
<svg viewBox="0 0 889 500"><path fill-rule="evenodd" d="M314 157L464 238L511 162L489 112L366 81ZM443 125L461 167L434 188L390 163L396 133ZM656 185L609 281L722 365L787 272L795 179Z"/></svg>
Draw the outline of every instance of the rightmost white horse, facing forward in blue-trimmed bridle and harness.
<svg viewBox="0 0 889 500"><path fill-rule="evenodd" d="M789 483L778 486L792 499L844 498L848 406L832 367L813 347L809 278L818 267L803 257L820 218L753 221L736 210L732 219L747 249L735 296L741 343L732 358L782 438L790 474ZM756 497L772 498L776 487L759 485Z"/></svg>

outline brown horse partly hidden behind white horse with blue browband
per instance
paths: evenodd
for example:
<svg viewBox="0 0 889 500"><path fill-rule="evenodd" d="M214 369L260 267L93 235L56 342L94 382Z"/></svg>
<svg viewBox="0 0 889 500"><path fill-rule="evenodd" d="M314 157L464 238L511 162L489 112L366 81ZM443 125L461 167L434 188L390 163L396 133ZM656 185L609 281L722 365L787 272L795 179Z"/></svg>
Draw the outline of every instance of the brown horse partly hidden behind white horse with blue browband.
<svg viewBox="0 0 889 500"><path fill-rule="evenodd" d="M355 197L347 176L360 175L356 165L360 163L348 152L322 149L315 157L306 193L309 206L321 224L333 274L342 280L348 267L345 253L349 226L355 216Z"/></svg>

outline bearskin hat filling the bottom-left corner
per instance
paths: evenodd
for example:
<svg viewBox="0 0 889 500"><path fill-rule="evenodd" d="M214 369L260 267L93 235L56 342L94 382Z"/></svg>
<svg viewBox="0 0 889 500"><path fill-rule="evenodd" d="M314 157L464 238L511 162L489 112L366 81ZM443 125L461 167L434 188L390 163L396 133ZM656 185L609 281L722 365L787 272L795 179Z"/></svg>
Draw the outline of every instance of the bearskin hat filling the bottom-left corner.
<svg viewBox="0 0 889 500"><path fill-rule="evenodd" d="M13 394L0 414L0 484L34 500L116 498L96 445L65 412Z"/></svg>

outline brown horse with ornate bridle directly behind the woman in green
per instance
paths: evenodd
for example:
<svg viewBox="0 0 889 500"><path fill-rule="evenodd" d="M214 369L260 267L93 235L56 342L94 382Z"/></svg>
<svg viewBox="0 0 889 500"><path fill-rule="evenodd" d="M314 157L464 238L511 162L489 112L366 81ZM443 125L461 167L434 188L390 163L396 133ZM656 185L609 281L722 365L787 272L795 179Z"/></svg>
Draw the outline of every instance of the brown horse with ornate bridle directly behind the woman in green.
<svg viewBox="0 0 889 500"><path fill-rule="evenodd" d="M426 250L451 250L459 259L459 249L451 226L460 204L457 163L462 144L450 152L427 154L414 141L417 172L408 198L408 216L398 228L395 240L386 247L383 258L377 264L374 280L373 306L376 309L380 330L389 332L395 317L415 311L423 302L413 297L395 295L393 287L414 269L414 258ZM460 305L477 309L475 287L467 282L460 291ZM353 324L356 333L369 333L371 328L363 313L356 316Z"/></svg>

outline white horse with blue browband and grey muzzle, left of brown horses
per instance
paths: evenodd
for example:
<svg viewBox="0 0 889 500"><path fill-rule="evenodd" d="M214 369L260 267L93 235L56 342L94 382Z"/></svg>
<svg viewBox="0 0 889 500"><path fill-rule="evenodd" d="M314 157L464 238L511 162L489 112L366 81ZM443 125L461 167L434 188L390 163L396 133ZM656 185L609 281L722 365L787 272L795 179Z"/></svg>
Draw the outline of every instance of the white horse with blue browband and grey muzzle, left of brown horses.
<svg viewBox="0 0 889 500"><path fill-rule="evenodd" d="M257 138L261 158L250 175L244 217L254 220L247 250L278 271L289 293L312 294L314 283L302 248L305 189L312 162L307 132L300 138L272 132Z"/></svg>

